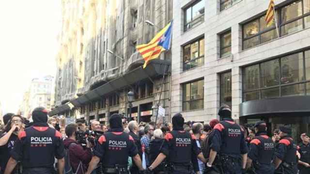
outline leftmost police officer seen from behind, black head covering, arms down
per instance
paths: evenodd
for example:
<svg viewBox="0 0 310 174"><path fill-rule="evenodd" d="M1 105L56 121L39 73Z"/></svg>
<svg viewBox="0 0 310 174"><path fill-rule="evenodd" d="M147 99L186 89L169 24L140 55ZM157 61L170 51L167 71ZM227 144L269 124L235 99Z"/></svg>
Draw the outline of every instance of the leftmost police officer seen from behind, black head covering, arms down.
<svg viewBox="0 0 310 174"><path fill-rule="evenodd" d="M55 157L58 159L59 174L62 174L64 167L62 134L48 127L45 108L35 108L32 119L33 126L18 134L4 174L11 174L17 161L21 161L23 174L53 174Z"/></svg>

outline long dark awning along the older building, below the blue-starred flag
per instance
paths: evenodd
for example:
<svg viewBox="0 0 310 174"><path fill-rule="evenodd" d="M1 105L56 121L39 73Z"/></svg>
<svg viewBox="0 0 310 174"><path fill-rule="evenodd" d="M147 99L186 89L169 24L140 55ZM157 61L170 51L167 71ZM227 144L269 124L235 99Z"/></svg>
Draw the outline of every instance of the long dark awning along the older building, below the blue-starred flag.
<svg viewBox="0 0 310 174"><path fill-rule="evenodd" d="M167 60L154 59L150 61L149 65L145 69L140 66L132 71L129 71L128 73L125 73L124 75L119 76L107 82L106 84L85 93L77 99L72 100L71 103L75 107L79 107L87 102L99 100L102 96L107 95L117 89L133 85L140 80L162 76L164 73L171 71L170 64L171 62ZM58 108L63 107L65 106L62 105ZM60 113L62 109L58 108L52 110L49 115L52 116Z"/></svg>

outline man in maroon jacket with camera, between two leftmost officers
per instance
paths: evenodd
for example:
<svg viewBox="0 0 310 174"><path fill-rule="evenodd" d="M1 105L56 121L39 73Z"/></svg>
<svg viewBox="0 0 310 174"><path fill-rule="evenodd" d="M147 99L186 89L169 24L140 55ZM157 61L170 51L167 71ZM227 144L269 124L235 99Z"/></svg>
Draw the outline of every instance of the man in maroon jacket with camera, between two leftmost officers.
<svg viewBox="0 0 310 174"><path fill-rule="evenodd" d="M66 149L69 149L70 164L74 173L84 174L92 159L91 144L87 143L87 148L84 150L82 145L77 142L76 131L78 131L78 125L69 124L65 129L68 138L64 140L63 144Z"/></svg>

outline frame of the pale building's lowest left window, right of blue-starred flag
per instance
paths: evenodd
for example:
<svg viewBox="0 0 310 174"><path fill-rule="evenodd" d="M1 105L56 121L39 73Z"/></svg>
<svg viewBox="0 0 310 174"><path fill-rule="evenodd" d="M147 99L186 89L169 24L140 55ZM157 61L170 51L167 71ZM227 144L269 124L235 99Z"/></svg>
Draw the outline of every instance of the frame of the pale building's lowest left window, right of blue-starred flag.
<svg viewBox="0 0 310 174"><path fill-rule="evenodd" d="M199 81L202 81L202 98L201 99L194 99L194 100L185 100L186 99L186 85L187 84L190 84L189 85L189 92L190 92L190 98L192 96L191 94L191 88L192 88L192 85L191 83L194 83L194 82L199 82ZM196 80L193 80L193 81L190 81L190 82L186 82L184 84L182 84L182 93L183 93L183 96L182 96L182 111L192 111L192 110L196 110L196 109L191 109L189 108L188 110L186 110L186 107L185 107L185 103L186 102L189 102L189 107L191 107L191 103L192 102L196 102L196 101L202 101L202 108L199 108L199 109L204 109L204 79L203 78L200 78L200 79L196 79Z"/></svg>

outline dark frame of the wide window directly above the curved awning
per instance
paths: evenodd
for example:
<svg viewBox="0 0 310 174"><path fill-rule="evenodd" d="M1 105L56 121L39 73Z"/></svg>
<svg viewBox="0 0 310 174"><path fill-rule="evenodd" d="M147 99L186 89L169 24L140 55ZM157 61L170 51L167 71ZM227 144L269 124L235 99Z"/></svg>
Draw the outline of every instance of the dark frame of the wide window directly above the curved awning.
<svg viewBox="0 0 310 174"><path fill-rule="evenodd" d="M242 71L243 71L243 73L242 73L242 77L243 77L243 81L242 81L242 102L248 102L248 101L245 101L245 97L244 97L244 94L245 93L249 93L249 92L258 92L258 94L259 94L259 99L258 100L263 100L263 99L265 99L265 98L262 98L262 91L263 90L266 90L266 89L272 89L272 88L278 88L279 89L279 97L287 97L287 96L283 96L282 95L282 92L281 92L281 89L282 89L282 87L287 87L287 86L294 86L294 85L299 85L299 84L301 84L301 85L303 85L304 86L304 94L303 94L303 96L306 96L307 95L307 83L310 83L310 79L309 80L307 80L306 79L306 74L307 74L307 72L306 72L306 52L307 51L310 51L310 49L304 49L304 50L302 50L302 51L297 51L297 52L293 52L293 53L288 53L288 54L285 54L285 55L282 55L282 56L280 56L280 57L277 57L277 58L272 58L272 59L268 59L268 60L264 60L264 61L262 61L262 62L259 62L259 63L255 63L255 64L251 64L251 65L248 65L248 66L245 66L245 67L242 67ZM281 59L282 58L285 58L285 57L288 57L288 56L292 56L292 55L298 55L298 54L300 54L300 53L302 53L302 60L303 60L303 65L302 65L302 67L303 67L303 74L302 74L302 79L300 80L300 81L298 81L298 82L292 82L292 83L288 83L288 84L283 84L282 83L282 81L281 81L281 77L282 77L282 61L281 61ZM262 87L262 82L261 82L261 80L262 80L262 72L261 72L261 64L262 63L264 63L264 62L268 62L268 61L271 61L271 60L276 60L276 59L278 59L278 61L279 61L279 85L274 85L274 86L270 86L270 87ZM250 67L250 66L256 66L256 65L259 65L259 75L258 75L258 78L259 78L259 81L258 81L258 88L256 88L256 89L250 89L250 90L245 90L245 68L247 68L247 67ZM297 95L294 95L294 96L297 96Z"/></svg>

